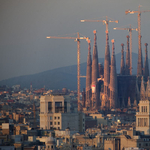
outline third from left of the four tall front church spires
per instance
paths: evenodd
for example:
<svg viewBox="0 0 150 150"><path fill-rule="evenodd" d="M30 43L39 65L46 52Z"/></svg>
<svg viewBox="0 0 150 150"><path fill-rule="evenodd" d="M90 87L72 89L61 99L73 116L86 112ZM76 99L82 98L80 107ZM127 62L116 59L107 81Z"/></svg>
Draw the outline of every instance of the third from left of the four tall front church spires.
<svg viewBox="0 0 150 150"><path fill-rule="evenodd" d="M104 60L104 95L103 106L109 99L109 83L110 83L110 50L109 50L109 36L106 31L106 46L105 46L105 60Z"/></svg>

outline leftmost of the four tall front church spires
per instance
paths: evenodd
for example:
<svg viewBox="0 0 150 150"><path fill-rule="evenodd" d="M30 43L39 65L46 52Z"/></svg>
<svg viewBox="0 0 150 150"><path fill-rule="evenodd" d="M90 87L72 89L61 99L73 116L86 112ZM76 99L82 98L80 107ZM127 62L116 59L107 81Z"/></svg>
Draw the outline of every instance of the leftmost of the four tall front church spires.
<svg viewBox="0 0 150 150"><path fill-rule="evenodd" d="M92 70L92 60L91 60L91 45L90 40L88 40L88 57L87 57L87 68L86 68L86 107L91 106L91 70Z"/></svg>

